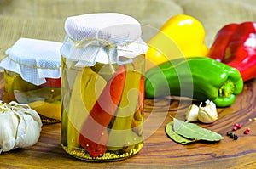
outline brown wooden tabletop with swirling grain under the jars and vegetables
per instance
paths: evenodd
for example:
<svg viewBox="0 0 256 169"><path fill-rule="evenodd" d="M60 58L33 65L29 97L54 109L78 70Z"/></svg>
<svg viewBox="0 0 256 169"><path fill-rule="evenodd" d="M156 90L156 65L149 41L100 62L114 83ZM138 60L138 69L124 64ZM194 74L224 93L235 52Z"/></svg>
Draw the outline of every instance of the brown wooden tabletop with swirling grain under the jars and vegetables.
<svg viewBox="0 0 256 169"><path fill-rule="evenodd" d="M3 74L0 76L3 93ZM2 95L2 94L1 94ZM67 155L61 149L61 123L45 125L38 143L0 155L0 168L256 168L256 80L247 82L230 107L218 109L218 121L201 124L224 136L215 143L181 145L166 136L170 115L184 120L190 100L163 98L145 100L145 141L143 149L125 161L91 163ZM195 103L198 104L198 103ZM252 121L248 121L249 119ZM238 140L226 136L235 122ZM249 135L243 134L247 127Z"/></svg>

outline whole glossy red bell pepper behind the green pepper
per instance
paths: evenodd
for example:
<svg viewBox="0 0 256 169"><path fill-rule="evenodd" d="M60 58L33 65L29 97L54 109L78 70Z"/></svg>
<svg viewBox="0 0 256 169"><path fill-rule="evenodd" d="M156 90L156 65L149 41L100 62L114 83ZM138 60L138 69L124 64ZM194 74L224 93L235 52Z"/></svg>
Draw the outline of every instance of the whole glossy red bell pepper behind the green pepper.
<svg viewBox="0 0 256 169"><path fill-rule="evenodd" d="M256 77L256 23L225 25L207 54L240 71L243 82Z"/></svg>

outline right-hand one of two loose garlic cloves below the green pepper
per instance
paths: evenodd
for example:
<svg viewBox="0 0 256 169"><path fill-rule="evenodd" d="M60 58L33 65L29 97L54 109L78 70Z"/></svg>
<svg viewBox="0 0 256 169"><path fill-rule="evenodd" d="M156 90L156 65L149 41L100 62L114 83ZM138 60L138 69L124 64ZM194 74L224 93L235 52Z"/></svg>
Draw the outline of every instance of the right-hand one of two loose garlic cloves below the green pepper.
<svg viewBox="0 0 256 169"><path fill-rule="evenodd" d="M213 121L216 121L218 119L216 105L209 100L206 101L205 107L202 107L200 104L197 118L204 123L212 123Z"/></svg>

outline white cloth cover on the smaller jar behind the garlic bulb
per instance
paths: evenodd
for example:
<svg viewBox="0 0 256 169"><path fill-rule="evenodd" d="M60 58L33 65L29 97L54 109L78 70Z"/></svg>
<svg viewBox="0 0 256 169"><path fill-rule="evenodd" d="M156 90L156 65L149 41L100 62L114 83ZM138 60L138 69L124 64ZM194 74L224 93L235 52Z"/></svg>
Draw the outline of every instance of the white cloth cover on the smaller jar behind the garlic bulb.
<svg viewBox="0 0 256 169"><path fill-rule="evenodd" d="M20 38L8 48L0 67L20 74L26 82L41 85L45 78L61 77L61 42Z"/></svg>

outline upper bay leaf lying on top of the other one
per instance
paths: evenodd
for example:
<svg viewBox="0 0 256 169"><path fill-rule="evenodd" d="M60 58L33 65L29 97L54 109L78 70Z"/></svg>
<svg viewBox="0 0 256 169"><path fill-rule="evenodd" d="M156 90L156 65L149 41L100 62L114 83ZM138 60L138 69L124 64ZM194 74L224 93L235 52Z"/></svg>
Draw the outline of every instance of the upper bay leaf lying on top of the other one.
<svg viewBox="0 0 256 169"><path fill-rule="evenodd" d="M185 138L207 141L219 141L224 139L217 132L212 132L206 128L200 127L194 123L184 122L174 118L173 131Z"/></svg>

